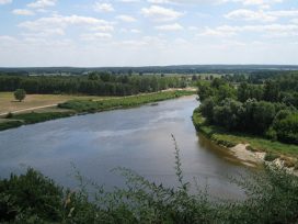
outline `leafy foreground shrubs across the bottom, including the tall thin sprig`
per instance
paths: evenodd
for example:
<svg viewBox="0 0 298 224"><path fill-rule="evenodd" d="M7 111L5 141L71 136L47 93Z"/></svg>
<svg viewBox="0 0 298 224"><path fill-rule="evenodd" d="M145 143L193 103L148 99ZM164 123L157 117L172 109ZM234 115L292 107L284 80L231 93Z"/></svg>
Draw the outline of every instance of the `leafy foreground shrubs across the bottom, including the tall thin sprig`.
<svg viewBox="0 0 298 224"><path fill-rule="evenodd" d="M175 144L177 188L146 180L136 172L117 168L125 188L106 191L79 172L80 190L62 189L42 173L28 169L0 180L0 222L4 223L296 223L298 177L279 169L265 169L251 178L231 181L248 195L242 201L215 200L196 182L196 193L185 182ZM95 193L87 192L87 186ZM92 191L93 192L93 191Z"/></svg>

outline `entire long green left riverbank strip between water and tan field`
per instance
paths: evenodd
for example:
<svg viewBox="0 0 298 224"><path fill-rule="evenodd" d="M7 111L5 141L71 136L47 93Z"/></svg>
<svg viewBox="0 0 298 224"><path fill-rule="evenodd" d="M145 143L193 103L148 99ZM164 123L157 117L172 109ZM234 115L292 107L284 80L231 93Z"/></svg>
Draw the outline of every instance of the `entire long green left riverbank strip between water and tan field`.
<svg viewBox="0 0 298 224"><path fill-rule="evenodd" d="M191 90L176 90L156 92L148 94L130 96L123 98L98 99L76 99L53 107L50 111L34 111L22 114L8 114L0 120L0 131L15 128L26 124L41 123L49 120L68 117L78 114L95 113L107 110L127 109L147 103L159 102L195 94Z"/></svg>

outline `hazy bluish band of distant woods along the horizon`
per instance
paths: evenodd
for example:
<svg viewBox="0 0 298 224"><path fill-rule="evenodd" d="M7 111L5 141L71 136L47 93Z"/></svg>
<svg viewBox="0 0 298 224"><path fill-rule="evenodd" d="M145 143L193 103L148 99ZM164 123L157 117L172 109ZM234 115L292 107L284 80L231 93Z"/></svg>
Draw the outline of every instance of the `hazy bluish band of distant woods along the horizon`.
<svg viewBox="0 0 298 224"><path fill-rule="evenodd" d="M176 65L176 66L145 66L145 67L28 67L28 68L0 68L0 72L18 75L82 75L90 71L111 72L113 75L129 74L251 74L272 72L282 70L298 70L298 66L291 65Z"/></svg>

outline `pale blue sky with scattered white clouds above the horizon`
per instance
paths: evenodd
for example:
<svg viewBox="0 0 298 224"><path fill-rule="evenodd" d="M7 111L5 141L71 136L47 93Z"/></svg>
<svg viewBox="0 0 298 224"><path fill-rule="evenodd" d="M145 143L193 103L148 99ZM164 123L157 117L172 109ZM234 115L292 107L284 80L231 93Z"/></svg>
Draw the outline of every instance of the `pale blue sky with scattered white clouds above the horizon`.
<svg viewBox="0 0 298 224"><path fill-rule="evenodd" d="M0 66L298 65L298 0L0 0Z"/></svg>

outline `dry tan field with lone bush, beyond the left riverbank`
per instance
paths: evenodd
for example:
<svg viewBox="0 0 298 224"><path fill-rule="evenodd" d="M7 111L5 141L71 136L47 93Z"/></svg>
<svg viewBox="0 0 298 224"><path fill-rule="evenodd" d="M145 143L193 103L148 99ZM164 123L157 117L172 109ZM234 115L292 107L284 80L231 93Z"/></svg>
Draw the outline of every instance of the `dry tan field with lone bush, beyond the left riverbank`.
<svg viewBox="0 0 298 224"><path fill-rule="evenodd" d="M69 100L103 100L111 97L27 94L23 102L15 101L13 92L0 92L0 114L37 107L62 103ZM44 110L44 109L41 109Z"/></svg>

